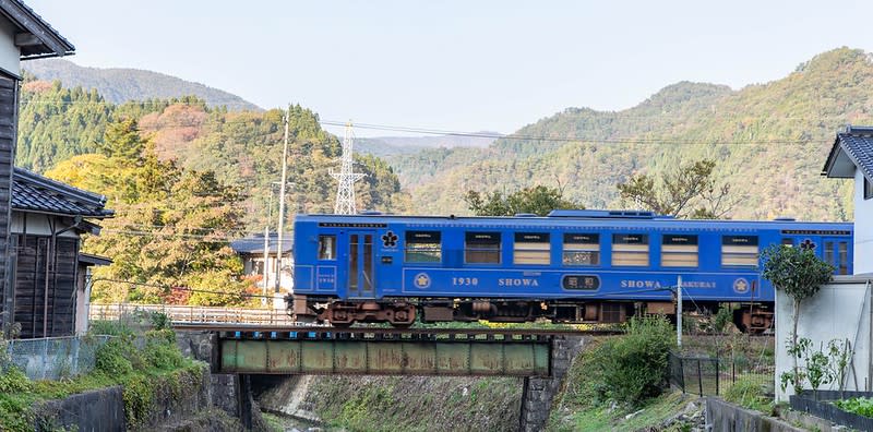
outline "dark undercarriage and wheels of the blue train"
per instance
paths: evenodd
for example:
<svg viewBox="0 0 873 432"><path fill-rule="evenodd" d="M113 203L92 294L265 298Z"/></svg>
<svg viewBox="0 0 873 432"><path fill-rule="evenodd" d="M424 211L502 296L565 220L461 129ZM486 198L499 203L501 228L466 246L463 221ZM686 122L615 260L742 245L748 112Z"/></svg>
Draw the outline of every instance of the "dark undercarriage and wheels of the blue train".
<svg viewBox="0 0 873 432"><path fill-rule="evenodd" d="M422 323L473 322L497 323L597 324L622 323L635 315L660 314L675 316L675 303L669 301L570 301L517 299L381 299L343 301L334 298L292 296L292 314L300 321L328 322L336 327L355 323L388 323L408 327L417 320ZM699 316L715 314L729 304L733 323L745 333L767 332L774 320L773 304L698 302L684 312Z"/></svg>

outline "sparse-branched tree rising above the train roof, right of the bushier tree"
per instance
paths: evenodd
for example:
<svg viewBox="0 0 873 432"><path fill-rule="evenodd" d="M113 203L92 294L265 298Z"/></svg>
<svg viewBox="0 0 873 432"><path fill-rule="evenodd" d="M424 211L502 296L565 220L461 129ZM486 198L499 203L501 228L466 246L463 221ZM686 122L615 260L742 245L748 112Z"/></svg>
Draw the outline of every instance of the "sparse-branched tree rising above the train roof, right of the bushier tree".
<svg viewBox="0 0 873 432"><path fill-rule="evenodd" d="M715 167L714 160L703 159L680 166L659 181L637 175L617 187L623 204L631 202L659 215L717 219L725 216L733 203L729 200L730 184L716 185Z"/></svg>

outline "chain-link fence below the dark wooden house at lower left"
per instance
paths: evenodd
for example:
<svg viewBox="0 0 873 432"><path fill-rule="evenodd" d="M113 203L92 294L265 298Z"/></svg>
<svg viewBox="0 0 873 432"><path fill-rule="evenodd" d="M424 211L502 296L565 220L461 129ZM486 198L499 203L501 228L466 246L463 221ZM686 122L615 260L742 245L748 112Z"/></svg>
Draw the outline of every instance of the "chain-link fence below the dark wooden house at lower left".
<svg viewBox="0 0 873 432"><path fill-rule="evenodd" d="M11 363L31 380L61 380L94 370L96 352L111 336L7 340Z"/></svg>

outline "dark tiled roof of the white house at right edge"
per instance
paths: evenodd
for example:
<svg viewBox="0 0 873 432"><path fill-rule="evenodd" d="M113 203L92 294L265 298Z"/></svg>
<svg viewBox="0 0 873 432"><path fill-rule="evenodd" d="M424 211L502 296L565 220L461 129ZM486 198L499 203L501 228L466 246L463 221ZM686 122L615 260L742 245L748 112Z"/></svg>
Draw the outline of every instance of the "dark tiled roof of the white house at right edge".
<svg viewBox="0 0 873 432"><path fill-rule="evenodd" d="M846 132L837 133L830 154L822 169L822 175L836 178L850 178L849 164L873 181L873 127L847 127Z"/></svg>

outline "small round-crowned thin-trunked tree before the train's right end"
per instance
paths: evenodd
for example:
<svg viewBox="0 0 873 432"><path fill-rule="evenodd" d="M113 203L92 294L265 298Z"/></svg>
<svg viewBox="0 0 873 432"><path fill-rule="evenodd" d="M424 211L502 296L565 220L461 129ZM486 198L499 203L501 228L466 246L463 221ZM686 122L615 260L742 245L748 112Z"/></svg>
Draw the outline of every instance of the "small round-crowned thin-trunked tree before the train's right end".
<svg viewBox="0 0 873 432"><path fill-rule="evenodd" d="M764 272L762 276L769 280L774 288L793 300L791 341L788 352L791 355L791 376L784 377L794 384L794 393L800 393L803 375L798 368L798 357L806 351L809 339L804 344L798 343L798 322L800 321L800 307L830 281L834 266L815 256L812 249L792 248L784 244L774 244L762 253ZM785 385L785 384L784 384Z"/></svg>

